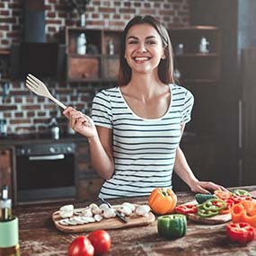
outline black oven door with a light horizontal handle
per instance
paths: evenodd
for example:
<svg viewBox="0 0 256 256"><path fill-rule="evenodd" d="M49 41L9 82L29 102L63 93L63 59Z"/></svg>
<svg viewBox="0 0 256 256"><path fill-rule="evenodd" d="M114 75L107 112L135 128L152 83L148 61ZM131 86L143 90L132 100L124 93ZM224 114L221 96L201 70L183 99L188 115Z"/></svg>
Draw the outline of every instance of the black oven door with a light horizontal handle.
<svg viewBox="0 0 256 256"><path fill-rule="evenodd" d="M17 201L75 197L75 154L17 155Z"/></svg>

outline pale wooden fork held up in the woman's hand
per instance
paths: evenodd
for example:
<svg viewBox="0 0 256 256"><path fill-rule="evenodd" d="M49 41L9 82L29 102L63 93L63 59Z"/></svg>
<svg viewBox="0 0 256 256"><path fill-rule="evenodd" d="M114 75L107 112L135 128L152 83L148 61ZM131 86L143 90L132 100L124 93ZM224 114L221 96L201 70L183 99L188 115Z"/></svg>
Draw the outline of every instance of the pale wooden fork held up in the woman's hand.
<svg viewBox="0 0 256 256"><path fill-rule="evenodd" d="M64 105L63 103L57 101L56 98L54 98L51 93L49 93L48 88L46 87L46 85L40 81L40 79L38 79L37 77L35 77L34 75L27 75L27 79L26 79L26 86L31 90L31 92L36 93L40 96L44 96L49 98L51 101L57 103L57 105L59 107L61 107L62 109L66 109L66 105Z"/></svg>

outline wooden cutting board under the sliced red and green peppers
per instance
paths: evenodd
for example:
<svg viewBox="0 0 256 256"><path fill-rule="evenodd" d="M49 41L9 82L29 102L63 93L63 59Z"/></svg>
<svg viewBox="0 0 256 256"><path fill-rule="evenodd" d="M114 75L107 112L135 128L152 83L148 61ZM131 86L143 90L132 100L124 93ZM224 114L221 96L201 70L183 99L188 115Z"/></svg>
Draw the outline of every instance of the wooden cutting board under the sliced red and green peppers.
<svg viewBox="0 0 256 256"><path fill-rule="evenodd" d="M197 204L197 201L194 200L188 204ZM201 217L197 214L188 214L187 217L197 223L201 224L208 224L208 225L217 225L217 224L224 224L231 220L231 214L224 214L224 215L217 215L211 217Z"/></svg>

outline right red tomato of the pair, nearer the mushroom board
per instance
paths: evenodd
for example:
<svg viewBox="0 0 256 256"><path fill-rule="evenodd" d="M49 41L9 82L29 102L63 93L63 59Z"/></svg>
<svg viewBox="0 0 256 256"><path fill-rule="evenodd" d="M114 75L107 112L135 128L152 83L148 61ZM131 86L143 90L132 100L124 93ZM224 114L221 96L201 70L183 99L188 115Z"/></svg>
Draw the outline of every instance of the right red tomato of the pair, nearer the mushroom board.
<svg viewBox="0 0 256 256"><path fill-rule="evenodd" d="M96 255L102 255L110 251L110 234L105 230L95 230L88 235L88 238L93 243Z"/></svg>

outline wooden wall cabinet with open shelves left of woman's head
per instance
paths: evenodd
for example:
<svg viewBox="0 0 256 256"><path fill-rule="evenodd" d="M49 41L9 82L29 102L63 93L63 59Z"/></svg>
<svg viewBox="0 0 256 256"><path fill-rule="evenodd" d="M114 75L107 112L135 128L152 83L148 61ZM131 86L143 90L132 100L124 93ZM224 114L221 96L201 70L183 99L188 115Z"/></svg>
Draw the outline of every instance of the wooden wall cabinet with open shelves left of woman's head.
<svg viewBox="0 0 256 256"><path fill-rule="evenodd" d="M78 40L84 33L85 54L78 54ZM116 81L119 72L121 31L66 27L67 80Z"/></svg>

